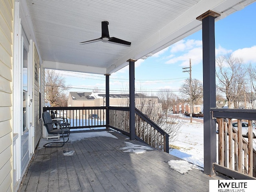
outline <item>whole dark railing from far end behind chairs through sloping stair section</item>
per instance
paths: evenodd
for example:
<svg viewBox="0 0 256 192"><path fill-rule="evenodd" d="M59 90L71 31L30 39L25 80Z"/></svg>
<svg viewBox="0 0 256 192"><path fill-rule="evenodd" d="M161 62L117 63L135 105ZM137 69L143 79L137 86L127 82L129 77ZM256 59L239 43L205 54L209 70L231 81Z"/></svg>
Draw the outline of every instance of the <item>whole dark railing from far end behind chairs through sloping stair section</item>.
<svg viewBox="0 0 256 192"><path fill-rule="evenodd" d="M67 118L70 122L70 129L109 126L130 136L129 108L109 107L108 109L109 125L106 125L106 107L44 107L43 110L54 111L56 118ZM138 109L135 112L136 139L169 152L169 135ZM90 114L97 114L99 118L90 118Z"/></svg>

